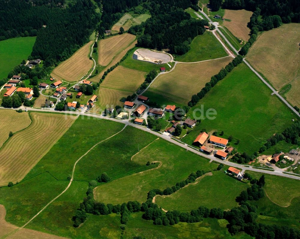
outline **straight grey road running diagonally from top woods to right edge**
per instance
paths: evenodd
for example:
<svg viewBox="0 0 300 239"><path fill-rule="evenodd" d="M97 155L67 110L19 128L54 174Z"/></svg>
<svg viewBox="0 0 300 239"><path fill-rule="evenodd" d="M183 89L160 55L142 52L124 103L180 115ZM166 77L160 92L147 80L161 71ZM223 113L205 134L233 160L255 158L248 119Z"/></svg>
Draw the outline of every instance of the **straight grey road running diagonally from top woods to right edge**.
<svg viewBox="0 0 300 239"><path fill-rule="evenodd" d="M208 22L210 22L212 25L214 25L216 27L216 31L218 31L218 33L223 37L223 39L228 43L228 45L232 48L232 50L235 51L236 54L238 54L238 51L231 45L231 43L228 41L228 39L223 35L223 33L219 30L218 26L215 25L211 19L203 12L200 11L200 13L203 14L203 16L205 16L208 19ZM196 13L198 16L200 16L198 13ZM250 64L245 60L245 58L243 59L244 63L251 69L251 71L253 71L260 80L262 80L263 83L265 83L270 89L271 91L278 96L278 98L285 103L298 117L300 117L300 114L298 113L297 110L295 110L281 95L279 95L279 93L268 83L264 80L264 78L262 78L262 76L252 67L250 66Z"/></svg>

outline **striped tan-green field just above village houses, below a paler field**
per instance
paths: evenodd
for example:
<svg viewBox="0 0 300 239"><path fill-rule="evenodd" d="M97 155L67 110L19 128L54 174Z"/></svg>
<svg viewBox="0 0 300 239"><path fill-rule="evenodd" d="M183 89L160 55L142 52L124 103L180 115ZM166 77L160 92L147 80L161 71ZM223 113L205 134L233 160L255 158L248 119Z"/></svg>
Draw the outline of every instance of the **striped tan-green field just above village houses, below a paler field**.
<svg viewBox="0 0 300 239"><path fill-rule="evenodd" d="M128 95L132 95L132 92L99 87L98 89L99 99L98 101L95 102L95 106L92 110L93 112L99 111L100 113L100 109L104 110L105 108L107 108L107 105L109 105L109 107L113 106L113 108L116 105L123 107L124 102L120 100L124 97L126 98ZM97 109L96 106L99 106L100 109Z"/></svg>

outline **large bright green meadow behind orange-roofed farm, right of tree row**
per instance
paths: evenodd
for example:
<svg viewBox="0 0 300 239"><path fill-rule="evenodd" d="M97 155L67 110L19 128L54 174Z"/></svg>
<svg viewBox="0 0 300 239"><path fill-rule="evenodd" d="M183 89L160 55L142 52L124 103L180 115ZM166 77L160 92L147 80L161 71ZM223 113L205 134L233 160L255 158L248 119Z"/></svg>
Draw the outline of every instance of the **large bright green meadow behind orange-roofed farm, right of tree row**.
<svg viewBox="0 0 300 239"><path fill-rule="evenodd" d="M209 108L215 109L217 115L211 116L216 118L209 120L206 115L195 112L194 116L201 117L202 121L184 137L185 143L192 144L202 129L224 131L223 138L230 135L234 138L229 144L240 152L251 154L274 133L280 133L292 124L292 118L295 118L276 96L271 96L271 90L244 63L217 83L190 109L188 116L193 118L193 111L201 105L204 114Z"/></svg>

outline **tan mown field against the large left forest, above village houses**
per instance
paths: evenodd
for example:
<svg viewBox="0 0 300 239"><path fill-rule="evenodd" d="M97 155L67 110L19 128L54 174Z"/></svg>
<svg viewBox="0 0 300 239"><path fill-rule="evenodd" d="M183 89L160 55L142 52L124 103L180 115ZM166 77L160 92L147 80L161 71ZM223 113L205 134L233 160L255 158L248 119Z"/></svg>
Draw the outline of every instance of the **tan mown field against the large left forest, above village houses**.
<svg viewBox="0 0 300 239"><path fill-rule="evenodd" d="M68 82L79 81L92 67L93 61L89 59L91 45L89 41L79 48L69 59L60 63L51 72L55 80L66 80Z"/></svg>

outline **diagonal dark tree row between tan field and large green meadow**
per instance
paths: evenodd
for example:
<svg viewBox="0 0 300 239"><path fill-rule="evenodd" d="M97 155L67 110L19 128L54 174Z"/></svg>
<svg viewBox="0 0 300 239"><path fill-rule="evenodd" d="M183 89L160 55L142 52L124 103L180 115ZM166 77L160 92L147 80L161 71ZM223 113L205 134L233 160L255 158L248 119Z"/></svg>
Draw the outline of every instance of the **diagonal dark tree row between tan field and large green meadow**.
<svg viewBox="0 0 300 239"><path fill-rule="evenodd" d="M238 55L235 57L232 62L230 62L225 68L222 68L218 74L211 77L211 80L205 84L205 86L201 89L197 95L193 95L188 106L192 107L198 103L200 99L204 97L204 95L210 91L212 87L214 87L218 81L222 80L230 71L233 70L234 67L238 66L243 61L243 57Z"/></svg>

